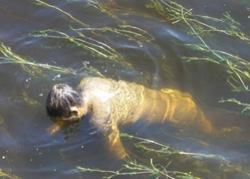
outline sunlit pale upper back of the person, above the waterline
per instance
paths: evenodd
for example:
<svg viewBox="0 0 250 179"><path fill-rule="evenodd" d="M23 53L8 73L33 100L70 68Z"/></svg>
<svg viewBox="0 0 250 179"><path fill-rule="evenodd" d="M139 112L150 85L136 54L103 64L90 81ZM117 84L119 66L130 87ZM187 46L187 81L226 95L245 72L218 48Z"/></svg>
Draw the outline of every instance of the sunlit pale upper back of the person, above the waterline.
<svg viewBox="0 0 250 179"><path fill-rule="evenodd" d="M92 97L93 113L100 120L112 120L123 125L140 118L142 85L91 77L85 78L79 86Z"/></svg>

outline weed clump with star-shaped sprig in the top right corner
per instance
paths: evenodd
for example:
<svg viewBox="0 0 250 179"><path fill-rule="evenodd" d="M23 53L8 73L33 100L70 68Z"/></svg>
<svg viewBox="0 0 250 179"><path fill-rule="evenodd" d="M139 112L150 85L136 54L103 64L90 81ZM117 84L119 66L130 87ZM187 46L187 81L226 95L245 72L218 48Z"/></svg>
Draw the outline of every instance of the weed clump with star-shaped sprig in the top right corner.
<svg viewBox="0 0 250 179"><path fill-rule="evenodd" d="M184 22L189 27L191 25L195 31L200 30L200 34L203 32L223 33L250 43L250 38L241 32L240 23L236 22L229 13L223 14L224 18L215 18L193 14L192 9L187 9L170 0L151 0L151 2L152 4L148 4L146 7L155 9L156 12L173 24ZM195 35L199 33L195 32Z"/></svg>

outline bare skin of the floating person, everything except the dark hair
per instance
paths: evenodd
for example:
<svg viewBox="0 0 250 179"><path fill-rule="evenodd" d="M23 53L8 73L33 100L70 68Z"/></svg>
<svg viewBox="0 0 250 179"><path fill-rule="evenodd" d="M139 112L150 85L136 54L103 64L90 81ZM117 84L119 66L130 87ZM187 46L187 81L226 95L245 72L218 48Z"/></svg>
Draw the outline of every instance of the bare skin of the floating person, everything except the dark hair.
<svg viewBox="0 0 250 179"><path fill-rule="evenodd" d="M54 118L57 122L47 129L48 133L61 129L62 121L78 120L89 113L90 123L105 136L110 152L118 159L127 156L118 128L127 123L170 121L206 133L214 130L192 97L178 90L156 91L135 83L97 77L85 78L79 88L83 105L72 106L70 110L75 115L70 118Z"/></svg>

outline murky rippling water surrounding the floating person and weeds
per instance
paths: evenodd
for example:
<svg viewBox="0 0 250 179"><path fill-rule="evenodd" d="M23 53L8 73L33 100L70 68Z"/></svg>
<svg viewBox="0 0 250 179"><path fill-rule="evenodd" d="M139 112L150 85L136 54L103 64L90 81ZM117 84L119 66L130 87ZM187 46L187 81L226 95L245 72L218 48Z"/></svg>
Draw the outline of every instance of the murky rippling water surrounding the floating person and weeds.
<svg viewBox="0 0 250 179"><path fill-rule="evenodd" d="M91 2L92 6L89 5ZM181 157L168 158L167 161L155 159L160 164L166 165L171 160L173 164L169 170L191 171L202 178L248 178L249 116L237 114L239 106L218 101L234 97L250 103L249 92L231 91L227 81L232 82L232 79L225 72L225 66L209 62L186 63L181 57L204 55L187 47L187 44L199 43L199 40L188 33L190 29L183 23L172 24L165 16L148 7L156 1L98 1L101 6L94 2L48 1L56 7L52 8L36 5L30 0L0 0L2 44L30 62L71 68L77 73L1 63L4 60L0 59L1 171L20 178L100 178L103 174L76 173L72 170L76 166L106 170L121 168L124 161L117 161L108 154L103 139L94 134L87 120L71 124L52 136L46 133L46 128L53 124L46 115L44 105L50 87L63 82L75 86L83 77L100 75L99 71L105 77L133 81L154 89L188 91L203 106L205 114L218 129L241 129L238 133L229 131L218 137L181 132L171 124L151 127L136 124L122 129L123 132L150 138L181 151L220 155L230 162L225 164L215 158L195 160L192 157L185 162ZM176 2L187 9L192 8L194 14L221 18L228 12L241 24L241 30L249 33L249 1ZM119 25L125 27L119 28ZM100 29L102 27L111 28ZM39 30L52 29L76 37L77 32L72 28L85 28L79 31L85 35L82 39L98 44L106 51L90 44L81 46L63 38L65 35L58 32L47 32L54 38L34 36L34 32ZM216 33L204 36L204 39L214 49L249 60L249 43L245 41ZM88 48L90 46L104 55L96 55ZM2 53L1 57L4 57ZM83 63L87 68L83 68ZM249 80L245 83L250 85ZM237 85L240 86L239 83ZM138 152L133 142L124 140L125 147L139 161L148 163L152 156ZM202 171L203 168L209 168L212 173Z"/></svg>

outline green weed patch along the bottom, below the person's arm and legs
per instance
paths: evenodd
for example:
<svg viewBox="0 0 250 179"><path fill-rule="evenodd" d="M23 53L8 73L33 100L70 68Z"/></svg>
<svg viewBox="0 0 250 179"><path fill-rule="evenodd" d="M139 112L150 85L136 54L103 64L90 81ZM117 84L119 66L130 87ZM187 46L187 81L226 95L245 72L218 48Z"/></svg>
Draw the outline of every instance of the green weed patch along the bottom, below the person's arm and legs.
<svg viewBox="0 0 250 179"><path fill-rule="evenodd" d="M123 140L132 140L137 152L143 156L143 159L136 154L131 153L131 158L125 159L125 163L119 170L104 170L99 168L85 168L76 166L72 172L83 173L93 172L103 174L103 178L115 178L118 176L138 176L149 178L199 178L196 175L210 176L213 178L215 168L223 173L224 176L230 175L230 172L238 172L242 176L249 176L244 169L239 169L238 164L232 164L230 161L219 155L199 154L185 152L171 148L166 144L154 140L145 139L129 134L122 133ZM130 141L131 142L131 141ZM206 164L208 162L208 164ZM211 162L213 165L211 166ZM180 167L189 166L182 171ZM223 166L223 167L222 167ZM178 168L178 171L172 170Z"/></svg>

